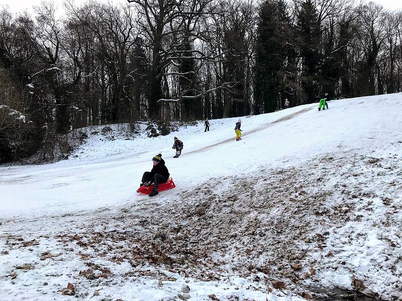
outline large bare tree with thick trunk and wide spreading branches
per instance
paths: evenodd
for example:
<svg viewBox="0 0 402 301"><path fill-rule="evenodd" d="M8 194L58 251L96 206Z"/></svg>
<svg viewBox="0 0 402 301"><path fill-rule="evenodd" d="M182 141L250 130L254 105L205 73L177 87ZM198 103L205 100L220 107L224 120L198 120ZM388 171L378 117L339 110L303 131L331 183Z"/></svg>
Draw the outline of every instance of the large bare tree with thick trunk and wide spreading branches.
<svg viewBox="0 0 402 301"><path fill-rule="evenodd" d="M195 60L213 60L208 54L194 49L194 41L203 39L198 27L203 15L210 13L211 0L128 0L134 3L140 25L140 34L150 52L150 73L148 78L149 116L158 116L161 101L191 100L200 96L197 90L196 74L199 64ZM187 65L185 67L185 65ZM180 89L171 97L167 88L167 76L178 77ZM163 95L163 88L169 97Z"/></svg>

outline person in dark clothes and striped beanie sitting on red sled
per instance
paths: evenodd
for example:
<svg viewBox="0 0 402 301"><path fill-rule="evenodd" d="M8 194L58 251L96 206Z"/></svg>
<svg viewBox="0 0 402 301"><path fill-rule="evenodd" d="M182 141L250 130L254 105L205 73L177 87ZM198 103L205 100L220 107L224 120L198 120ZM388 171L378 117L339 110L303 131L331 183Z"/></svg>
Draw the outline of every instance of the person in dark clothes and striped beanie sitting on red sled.
<svg viewBox="0 0 402 301"><path fill-rule="evenodd" d="M153 167L150 172L145 172L142 176L141 186L150 186L152 183L154 187L149 194L150 197L156 196L158 194L158 185L160 183L165 183L169 179L169 171L165 166L165 161L162 159L162 155L158 154L152 158Z"/></svg>

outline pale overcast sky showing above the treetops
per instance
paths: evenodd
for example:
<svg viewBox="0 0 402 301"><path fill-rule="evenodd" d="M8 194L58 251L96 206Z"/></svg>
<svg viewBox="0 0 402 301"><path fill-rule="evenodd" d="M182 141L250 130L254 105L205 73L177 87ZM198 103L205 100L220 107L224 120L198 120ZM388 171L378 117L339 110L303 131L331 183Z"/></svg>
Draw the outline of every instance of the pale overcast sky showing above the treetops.
<svg viewBox="0 0 402 301"><path fill-rule="evenodd" d="M98 2L105 2L107 3L108 0L97 0ZM126 4L126 0L110 0L112 3L124 3ZM32 7L38 6L41 0L29 0L29 1L21 1L21 0L0 0L0 5L9 6L10 9L14 13L22 12L24 10L32 11ZM62 8L63 0L55 0L58 7ZM84 2L82 0L75 0L77 3ZM391 10L402 10L402 1L401 0L377 0L375 1L381 5L383 5L387 9Z"/></svg>

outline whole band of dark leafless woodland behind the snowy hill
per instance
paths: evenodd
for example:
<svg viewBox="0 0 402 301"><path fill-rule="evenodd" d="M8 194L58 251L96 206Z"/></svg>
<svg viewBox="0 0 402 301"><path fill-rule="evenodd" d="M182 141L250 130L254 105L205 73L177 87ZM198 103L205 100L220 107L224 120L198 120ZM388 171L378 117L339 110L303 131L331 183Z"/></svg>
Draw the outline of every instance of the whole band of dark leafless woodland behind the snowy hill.
<svg viewBox="0 0 402 301"><path fill-rule="evenodd" d="M60 137L88 125L243 116L402 86L402 14L371 2L0 9L0 162L52 159Z"/></svg>

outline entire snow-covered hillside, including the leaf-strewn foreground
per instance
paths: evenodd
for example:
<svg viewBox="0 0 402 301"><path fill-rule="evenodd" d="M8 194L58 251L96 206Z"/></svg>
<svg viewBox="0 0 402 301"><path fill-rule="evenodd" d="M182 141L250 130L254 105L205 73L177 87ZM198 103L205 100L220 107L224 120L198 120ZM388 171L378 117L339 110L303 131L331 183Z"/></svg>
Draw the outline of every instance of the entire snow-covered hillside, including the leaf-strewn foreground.
<svg viewBox="0 0 402 301"><path fill-rule="evenodd" d="M402 93L329 106L242 117L240 141L238 118L90 127L67 161L0 167L0 300L402 300ZM139 195L158 153L176 188Z"/></svg>

